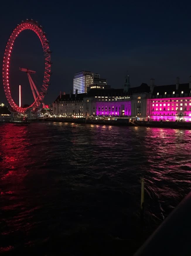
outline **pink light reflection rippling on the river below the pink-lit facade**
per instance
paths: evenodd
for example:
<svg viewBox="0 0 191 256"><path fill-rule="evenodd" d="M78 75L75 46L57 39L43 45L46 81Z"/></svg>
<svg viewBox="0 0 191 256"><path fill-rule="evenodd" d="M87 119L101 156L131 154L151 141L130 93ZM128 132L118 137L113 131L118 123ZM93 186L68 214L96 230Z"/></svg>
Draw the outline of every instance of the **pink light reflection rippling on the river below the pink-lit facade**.
<svg viewBox="0 0 191 256"><path fill-rule="evenodd" d="M147 194L151 199L158 197L163 216L162 205L165 205L165 202L160 201L160 198L168 198L167 202L170 197L178 200L180 194L184 195L184 186L180 184L190 184L191 188L191 160L187 157L187 151L190 151L191 131L167 128L150 128L148 131L143 148L149 171L144 165L142 169L147 170ZM169 184L174 184L179 190Z"/></svg>

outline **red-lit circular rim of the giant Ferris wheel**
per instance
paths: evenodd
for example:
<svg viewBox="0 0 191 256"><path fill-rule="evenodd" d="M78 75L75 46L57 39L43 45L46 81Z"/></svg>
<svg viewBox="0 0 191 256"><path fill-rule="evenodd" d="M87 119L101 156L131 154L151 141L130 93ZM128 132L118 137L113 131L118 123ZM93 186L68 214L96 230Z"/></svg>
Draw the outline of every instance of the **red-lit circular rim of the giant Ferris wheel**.
<svg viewBox="0 0 191 256"><path fill-rule="evenodd" d="M11 90L10 90L10 84L9 84L9 70L10 70L10 63L11 63L11 52L13 49L14 41L17 38L17 36L26 29L30 29L37 34L39 37L42 48L44 51L44 56L45 56L45 74L44 74L44 79L42 83L42 88L39 92L39 95L37 99L29 106L26 108L19 107L12 99L11 97ZM45 94L47 92L47 88L50 83L50 75L51 75L51 57L50 57L51 51L49 49L49 41L46 38L45 32L42 30L42 26L39 26L37 22L33 20L26 20L22 21L20 24L16 26L16 28L13 30L11 36L8 39L8 42L6 44L5 48L5 54L4 54L4 59L3 59L3 85L4 85L4 91L6 94L6 98L8 100L8 103L10 104L11 108L20 113L26 112L27 109L33 109L35 110L40 103L43 101Z"/></svg>

